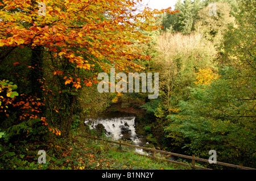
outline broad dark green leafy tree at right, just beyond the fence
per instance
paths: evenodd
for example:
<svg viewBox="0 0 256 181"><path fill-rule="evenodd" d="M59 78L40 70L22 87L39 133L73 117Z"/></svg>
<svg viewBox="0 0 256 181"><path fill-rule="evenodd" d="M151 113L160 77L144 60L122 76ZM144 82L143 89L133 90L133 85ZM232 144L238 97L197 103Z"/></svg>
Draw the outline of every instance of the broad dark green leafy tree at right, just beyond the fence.
<svg viewBox="0 0 256 181"><path fill-rule="evenodd" d="M245 89L234 91L234 80L229 78L234 70L222 72L221 78L210 85L191 89L191 99L179 103L182 111L168 116L171 124L165 131L170 137L181 133L188 139L183 148L188 148L189 154L205 156L214 149L223 162L255 167L255 103L244 101ZM240 99L236 99L236 95Z"/></svg>

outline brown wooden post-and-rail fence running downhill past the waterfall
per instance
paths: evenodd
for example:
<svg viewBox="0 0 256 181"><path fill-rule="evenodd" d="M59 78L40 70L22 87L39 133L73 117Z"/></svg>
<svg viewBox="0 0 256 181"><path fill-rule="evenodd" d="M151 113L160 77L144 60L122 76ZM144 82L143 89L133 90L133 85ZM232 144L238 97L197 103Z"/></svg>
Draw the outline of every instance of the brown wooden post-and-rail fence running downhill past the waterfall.
<svg viewBox="0 0 256 181"><path fill-rule="evenodd" d="M183 165L183 166L189 166L189 167L192 167L192 168L195 168L195 169L211 170L211 169L208 169L208 168L205 168L205 167L196 166L195 165L195 161L201 161L201 162L209 163L209 160L208 159L203 159L203 158L197 158L197 157L195 157L195 155L192 155L192 157L191 157L191 156L188 156L188 155L183 155L183 154L171 153L171 152L168 152L168 151L157 150L155 148L146 148L146 147L142 147L142 146L130 145L130 144L123 143L121 141L117 142L117 141L104 140L102 138L97 138L97 137L92 137L92 136L85 136L85 137L92 138L94 140L101 140L101 141L110 142L112 144L117 144L117 145L119 145L119 150L122 150L122 145L123 145L123 146L130 146L132 148L138 148L138 149L143 149L143 150L151 151L152 155L144 155L144 154L139 154L139 153L137 153L137 154L143 155L145 157L150 157L152 159L159 159L160 161L176 163L176 164ZM122 150L122 151L126 151L126 150ZM156 153L162 153L162 154L177 156L177 157L181 157L181 158L191 159L191 164L183 163L183 162L177 162L177 161L172 161L170 159L158 158L158 157L156 157ZM230 164L230 163L223 163L223 162L218 162L218 161L216 163L214 163L214 164L222 165L222 166L228 166L228 167L234 167L234 168L243 169L243 170L256 170L256 169L253 169L253 168L250 168L250 167L244 167L244 166L240 166L240 165L233 165L233 164Z"/></svg>

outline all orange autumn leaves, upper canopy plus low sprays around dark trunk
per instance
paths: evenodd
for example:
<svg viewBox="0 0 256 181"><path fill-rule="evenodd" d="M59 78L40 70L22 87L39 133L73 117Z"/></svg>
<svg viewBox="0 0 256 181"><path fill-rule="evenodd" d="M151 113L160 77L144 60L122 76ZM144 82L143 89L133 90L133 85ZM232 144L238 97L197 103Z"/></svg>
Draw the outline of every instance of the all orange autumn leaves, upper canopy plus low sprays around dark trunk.
<svg viewBox="0 0 256 181"><path fill-rule="evenodd" d="M43 75L48 76L48 71L51 71L47 82L51 82L54 89L49 89L45 82L41 82L42 86L38 88L42 89L44 98L49 102L50 95L55 93L56 98L58 92L64 91L61 90L63 86L60 86L63 82L68 88L72 85L75 89L81 89L82 86L90 87L97 83L96 79L86 78L91 75L93 77L94 64L102 69L109 68L110 64L117 65L122 71L128 70L127 68L142 69L131 62L136 59L148 59L148 56L138 48L139 44L148 40L146 33L143 34L139 27L148 31L155 30L157 27L151 26L150 23L155 14L174 12L144 10L141 14L135 14L132 13L135 11L135 1L43 0L47 4L46 16L39 16L38 6L34 1L1 2L5 5L0 10L0 47L43 47L43 56L46 56L42 58L43 63L46 63L42 64L45 68L42 70ZM19 62L14 62L13 65L18 66ZM39 68L25 66L31 71ZM63 82L58 82L57 78L62 76ZM59 85L53 86L55 83ZM67 89L69 90L71 89ZM44 102L32 100L33 98L27 99L20 98L14 104L22 112L20 119L39 117ZM50 106L49 109L51 113L58 111L57 108ZM43 124L48 126L46 119L41 119ZM54 134L60 134L58 129L49 130Z"/></svg>

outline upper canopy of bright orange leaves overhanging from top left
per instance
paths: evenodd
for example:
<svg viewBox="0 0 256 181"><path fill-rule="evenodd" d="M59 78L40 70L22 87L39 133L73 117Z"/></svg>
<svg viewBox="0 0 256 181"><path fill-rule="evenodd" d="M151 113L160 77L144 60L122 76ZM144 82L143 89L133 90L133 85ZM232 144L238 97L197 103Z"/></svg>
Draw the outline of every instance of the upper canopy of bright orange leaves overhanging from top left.
<svg viewBox="0 0 256 181"><path fill-rule="evenodd" d="M138 27L148 31L155 30L156 26L148 23L150 19L154 19L156 14L163 12L171 14L176 12L171 11L171 8L161 11L145 9L143 13L131 14L131 11L135 11L134 1L48 0L46 16L38 16L38 7L32 6L30 0L27 3L21 0L6 0L5 5L8 6L0 10L1 18L3 18L3 23L0 24L0 35L3 35L0 36L0 47L43 45L49 51L55 52L53 55L55 60L63 61L63 56L65 56L69 62L76 64L77 68L86 70L92 70L93 65L85 63L85 60L76 56L72 50L67 52L68 47L87 49L88 51L80 54L85 54L91 61L96 58L101 66L105 66L101 64L104 58L120 65L136 58L145 59L147 56L139 53L134 43L144 43L147 40L146 35L138 31ZM6 11L13 6L23 11ZM102 17L102 14L106 12L108 12L108 19ZM5 15L2 17L2 14ZM15 18L32 23L32 26L24 28ZM79 26L78 24L85 25ZM57 47L65 48L61 48L59 52ZM57 56L62 56L62 58ZM61 73L54 71L53 74ZM71 82L69 80L65 83ZM79 87L78 84L75 86Z"/></svg>

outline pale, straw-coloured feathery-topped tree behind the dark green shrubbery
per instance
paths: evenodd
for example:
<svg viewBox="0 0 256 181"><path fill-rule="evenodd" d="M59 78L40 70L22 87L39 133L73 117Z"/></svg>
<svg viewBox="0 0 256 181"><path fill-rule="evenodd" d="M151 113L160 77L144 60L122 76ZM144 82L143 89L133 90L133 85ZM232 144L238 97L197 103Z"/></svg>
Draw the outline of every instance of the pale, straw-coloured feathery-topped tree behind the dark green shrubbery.
<svg viewBox="0 0 256 181"><path fill-rule="evenodd" d="M214 45L199 33L182 35L164 32L158 37L158 57L154 69L159 71L159 95L167 111L175 108L179 100L188 98L188 86L195 82L197 71L203 68L216 69Z"/></svg>

